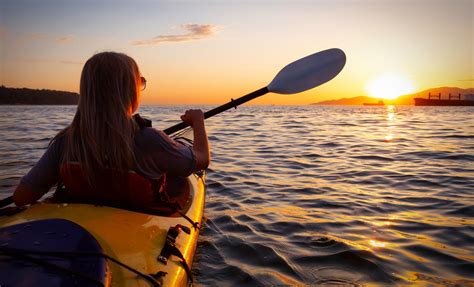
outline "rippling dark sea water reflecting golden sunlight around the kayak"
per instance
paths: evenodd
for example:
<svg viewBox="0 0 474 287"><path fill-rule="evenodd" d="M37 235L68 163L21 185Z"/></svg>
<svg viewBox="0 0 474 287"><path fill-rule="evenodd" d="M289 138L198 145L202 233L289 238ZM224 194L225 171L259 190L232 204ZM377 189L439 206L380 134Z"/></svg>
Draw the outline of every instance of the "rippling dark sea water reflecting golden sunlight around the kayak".
<svg viewBox="0 0 474 287"><path fill-rule="evenodd" d="M187 108L139 112L164 129ZM0 106L1 198L74 112ZM209 119L195 282L474 286L473 114L248 106Z"/></svg>

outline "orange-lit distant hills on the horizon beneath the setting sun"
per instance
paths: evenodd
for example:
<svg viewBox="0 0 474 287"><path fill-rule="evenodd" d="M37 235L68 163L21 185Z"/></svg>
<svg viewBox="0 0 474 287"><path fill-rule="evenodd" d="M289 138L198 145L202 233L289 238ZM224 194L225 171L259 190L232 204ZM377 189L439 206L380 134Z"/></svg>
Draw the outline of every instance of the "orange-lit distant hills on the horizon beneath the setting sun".
<svg viewBox="0 0 474 287"><path fill-rule="evenodd" d="M448 98L449 93L451 95L458 95L461 94L461 98L467 94L474 94L474 88L469 89L461 89L456 87L439 87L439 88L432 88L428 90L424 90L415 94L404 95L396 98L395 100L387 100L387 99L378 99L372 98L367 96L358 96L353 98L343 98L338 100L330 100L330 101L322 101L318 103L314 103L311 105L363 105L364 103L376 103L379 100L384 101L387 105L413 105L415 101L414 98L428 98L428 94L431 95L438 95L441 93L441 98Z"/></svg>

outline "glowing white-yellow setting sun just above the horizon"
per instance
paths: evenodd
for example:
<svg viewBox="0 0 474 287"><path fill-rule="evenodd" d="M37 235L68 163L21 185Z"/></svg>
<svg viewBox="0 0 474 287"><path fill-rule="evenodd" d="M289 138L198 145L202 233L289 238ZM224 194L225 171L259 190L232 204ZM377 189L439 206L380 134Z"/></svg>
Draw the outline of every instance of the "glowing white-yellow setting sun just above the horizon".
<svg viewBox="0 0 474 287"><path fill-rule="evenodd" d="M393 100L415 90L410 80L400 75L381 75L367 83L366 91L373 98Z"/></svg>

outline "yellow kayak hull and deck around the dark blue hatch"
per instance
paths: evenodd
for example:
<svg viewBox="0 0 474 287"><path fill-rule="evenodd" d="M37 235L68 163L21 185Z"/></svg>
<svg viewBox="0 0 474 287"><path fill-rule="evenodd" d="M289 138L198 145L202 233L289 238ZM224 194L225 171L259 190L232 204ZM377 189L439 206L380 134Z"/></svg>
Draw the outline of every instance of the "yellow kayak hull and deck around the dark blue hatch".
<svg viewBox="0 0 474 287"><path fill-rule="evenodd" d="M170 238L170 236L168 236L168 241L170 239L173 241L172 243L182 253L189 268L193 262L199 229L193 228L189 219L198 223L198 226L201 225L205 186L202 176L193 174L188 177L188 181L192 196L189 208L184 211L188 220L183 216L156 216L105 206L40 202L18 213L0 216L0 248L8 251L7 248L14 245L14 238L19 233L18 230L15 230L14 225L23 226L21 230L27 230L29 223L38 220L65 219L76 223L92 235L99 244L102 253L142 274L155 275L158 285L186 286L190 278L188 278L182 260L174 254L168 254L168 260L163 260L160 254L163 255L163 248L170 228L182 226L182 229L190 234L183 232L180 228L175 228L175 231L181 232L177 234L175 242L174 238ZM2 233L1 230L4 230L4 232ZM48 236L48 232L51 234L56 232L58 233L57 236L67 236L65 233L59 234L54 230L45 230L42 236ZM43 243L41 240L32 241L31 244L37 250L42 250ZM0 268L8 267L5 264L9 264L9 261L5 260L5 257L10 255L7 254L8 256L6 256L5 254L7 253L0 253ZM160 261L160 259L162 260ZM54 263L54 261L50 262ZM32 259L29 264L34 265L36 263ZM66 267L68 266L70 264ZM7 275L0 271L0 284L4 276ZM28 274L25 274L26 276ZM34 286L46 286L41 282L36 283ZM106 260L103 286L153 286L153 284L111 260Z"/></svg>

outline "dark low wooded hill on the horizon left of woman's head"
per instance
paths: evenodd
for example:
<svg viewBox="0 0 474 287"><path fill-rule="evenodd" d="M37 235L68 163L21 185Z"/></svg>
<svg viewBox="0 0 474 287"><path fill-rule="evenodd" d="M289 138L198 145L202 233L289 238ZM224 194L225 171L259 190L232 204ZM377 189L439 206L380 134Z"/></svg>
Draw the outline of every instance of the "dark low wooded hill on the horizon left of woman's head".
<svg viewBox="0 0 474 287"><path fill-rule="evenodd" d="M0 105L77 105L79 94L0 86Z"/></svg>

